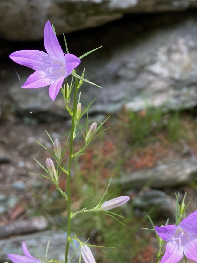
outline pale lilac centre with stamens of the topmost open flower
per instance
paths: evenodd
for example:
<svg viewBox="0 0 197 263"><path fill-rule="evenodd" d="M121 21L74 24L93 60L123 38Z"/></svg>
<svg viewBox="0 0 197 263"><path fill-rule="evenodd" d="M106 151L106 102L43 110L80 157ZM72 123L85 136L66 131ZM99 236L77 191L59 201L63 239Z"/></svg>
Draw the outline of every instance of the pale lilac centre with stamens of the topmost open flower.
<svg viewBox="0 0 197 263"><path fill-rule="evenodd" d="M47 68L48 75L52 79L59 79L66 74L65 63L63 61L52 59L51 67Z"/></svg>

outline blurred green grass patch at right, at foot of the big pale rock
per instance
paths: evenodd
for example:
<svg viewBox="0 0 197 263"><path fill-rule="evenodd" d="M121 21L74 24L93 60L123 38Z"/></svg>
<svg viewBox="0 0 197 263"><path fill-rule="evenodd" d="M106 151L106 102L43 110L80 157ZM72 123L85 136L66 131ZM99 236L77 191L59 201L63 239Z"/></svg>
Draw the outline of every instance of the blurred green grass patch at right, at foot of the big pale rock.
<svg viewBox="0 0 197 263"><path fill-rule="evenodd" d="M130 143L144 145L156 140L161 134L170 142L180 138L187 138L187 129L181 125L179 111L164 113L162 108L149 107L141 112L129 112L128 129L130 130Z"/></svg>

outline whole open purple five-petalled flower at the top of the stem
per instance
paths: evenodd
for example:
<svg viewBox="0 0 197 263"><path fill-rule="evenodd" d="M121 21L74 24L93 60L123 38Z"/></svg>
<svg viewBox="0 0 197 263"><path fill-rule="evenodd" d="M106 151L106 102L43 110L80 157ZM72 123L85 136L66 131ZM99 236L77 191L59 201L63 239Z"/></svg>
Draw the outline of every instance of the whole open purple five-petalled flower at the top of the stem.
<svg viewBox="0 0 197 263"><path fill-rule="evenodd" d="M55 100L64 79L81 61L75 55L64 55L49 21L44 27L44 47L47 53L40 50L20 50L9 57L16 63L36 71L29 76L22 88L41 88L50 85L49 96Z"/></svg>

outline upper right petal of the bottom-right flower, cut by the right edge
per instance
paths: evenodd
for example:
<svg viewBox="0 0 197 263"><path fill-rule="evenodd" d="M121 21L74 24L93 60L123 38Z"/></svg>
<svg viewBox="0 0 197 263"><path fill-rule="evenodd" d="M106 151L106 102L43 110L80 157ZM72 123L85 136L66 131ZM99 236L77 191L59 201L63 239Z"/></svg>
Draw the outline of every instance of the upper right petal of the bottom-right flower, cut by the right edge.
<svg viewBox="0 0 197 263"><path fill-rule="evenodd" d="M179 226L187 233L197 235L197 210L183 219Z"/></svg>

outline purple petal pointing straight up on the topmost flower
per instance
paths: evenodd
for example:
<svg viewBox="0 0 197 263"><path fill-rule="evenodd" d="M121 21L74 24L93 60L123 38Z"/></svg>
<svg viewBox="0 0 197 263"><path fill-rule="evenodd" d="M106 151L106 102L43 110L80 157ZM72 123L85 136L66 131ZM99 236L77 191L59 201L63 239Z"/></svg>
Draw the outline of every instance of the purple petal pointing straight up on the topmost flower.
<svg viewBox="0 0 197 263"><path fill-rule="evenodd" d="M49 21L44 27L44 47L50 56L64 58L64 52Z"/></svg>

